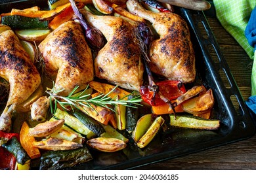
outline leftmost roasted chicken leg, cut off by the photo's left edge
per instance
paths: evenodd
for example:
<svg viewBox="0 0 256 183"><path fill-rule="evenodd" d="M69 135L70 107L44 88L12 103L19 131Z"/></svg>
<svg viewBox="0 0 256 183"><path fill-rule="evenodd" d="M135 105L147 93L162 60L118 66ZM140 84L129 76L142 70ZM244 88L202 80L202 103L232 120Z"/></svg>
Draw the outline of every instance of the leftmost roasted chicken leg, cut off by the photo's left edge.
<svg viewBox="0 0 256 183"><path fill-rule="evenodd" d="M12 30L0 34L0 77L9 81L10 92L0 117L0 130L11 130L12 110L26 101L41 83L35 65Z"/></svg>

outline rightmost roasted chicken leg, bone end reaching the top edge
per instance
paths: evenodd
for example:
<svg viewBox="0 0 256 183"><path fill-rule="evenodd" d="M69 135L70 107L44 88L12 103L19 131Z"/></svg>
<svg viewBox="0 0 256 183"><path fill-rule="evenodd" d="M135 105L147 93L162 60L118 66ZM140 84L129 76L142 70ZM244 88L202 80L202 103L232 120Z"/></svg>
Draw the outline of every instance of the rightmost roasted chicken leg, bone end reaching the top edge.
<svg viewBox="0 0 256 183"><path fill-rule="evenodd" d="M160 39L150 48L150 69L169 80L193 82L196 76L195 54L188 25L181 16L171 12L155 13L145 10L138 1L128 0L133 14L149 20Z"/></svg>

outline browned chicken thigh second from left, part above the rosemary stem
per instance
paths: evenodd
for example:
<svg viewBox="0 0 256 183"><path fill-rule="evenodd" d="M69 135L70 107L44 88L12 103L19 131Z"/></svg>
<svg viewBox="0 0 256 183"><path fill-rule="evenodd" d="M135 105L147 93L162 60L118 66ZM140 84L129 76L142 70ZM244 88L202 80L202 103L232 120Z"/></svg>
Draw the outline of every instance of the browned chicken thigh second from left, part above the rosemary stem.
<svg viewBox="0 0 256 183"><path fill-rule="evenodd" d="M75 86L83 90L93 80L93 58L85 41L81 26L74 21L66 22L39 44L45 69L56 76L56 90L68 95Z"/></svg>

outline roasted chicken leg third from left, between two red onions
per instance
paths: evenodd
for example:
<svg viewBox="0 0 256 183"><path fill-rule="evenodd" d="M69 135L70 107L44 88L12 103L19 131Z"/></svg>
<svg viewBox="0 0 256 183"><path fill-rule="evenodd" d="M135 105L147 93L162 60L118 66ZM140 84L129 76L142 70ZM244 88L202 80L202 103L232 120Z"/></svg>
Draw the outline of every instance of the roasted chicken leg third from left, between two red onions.
<svg viewBox="0 0 256 183"><path fill-rule="evenodd" d="M139 90L144 66L140 61L140 48L133 37L133 25L114 16L95 16L86 10L81 12L107 40L95 58L95 75L123 88Z"/></svg>

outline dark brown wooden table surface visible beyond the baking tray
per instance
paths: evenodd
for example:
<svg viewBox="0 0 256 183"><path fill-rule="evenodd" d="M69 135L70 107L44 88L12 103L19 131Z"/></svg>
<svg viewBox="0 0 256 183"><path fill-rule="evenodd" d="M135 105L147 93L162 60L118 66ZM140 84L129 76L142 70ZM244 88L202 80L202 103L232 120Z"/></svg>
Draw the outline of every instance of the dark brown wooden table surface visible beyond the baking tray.
<svg viewBox="0 0 256 183"><path fill-rule="evenodd" d="M244 100L251 95L253 60L222 27L215 16L207 20ZM256 136L179 158L145 165L139 169L256 169Z"/></svg>

